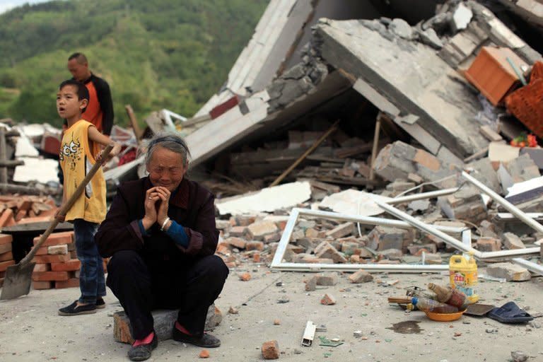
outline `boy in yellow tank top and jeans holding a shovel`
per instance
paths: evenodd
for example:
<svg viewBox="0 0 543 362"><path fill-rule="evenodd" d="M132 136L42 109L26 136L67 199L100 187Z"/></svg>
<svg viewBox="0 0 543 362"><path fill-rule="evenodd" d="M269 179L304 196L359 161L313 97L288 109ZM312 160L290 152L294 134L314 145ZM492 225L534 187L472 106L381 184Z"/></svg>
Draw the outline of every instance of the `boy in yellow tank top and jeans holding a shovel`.
<svg viewBox="0 0 543 362"><path fill-rule="evenodd" d="M81 119L88 105L88 90L83 83L70 79L59 86L57 112L66 119L68 129L62 137L60 165L64 173L63 202L74 194L78 185L96 162L100 162L99 146L113 144L91 122ZM117 155L120 145L115 144L109 158ZM94 243L94 234L104 220L105 179L102 169L93 176L74 206L66 213L65 220L74 223L77 257L81 261L79 288L81 297L70 305L60 308L59 315L96 313L105 307L105 277L102 258Z"/></svg>

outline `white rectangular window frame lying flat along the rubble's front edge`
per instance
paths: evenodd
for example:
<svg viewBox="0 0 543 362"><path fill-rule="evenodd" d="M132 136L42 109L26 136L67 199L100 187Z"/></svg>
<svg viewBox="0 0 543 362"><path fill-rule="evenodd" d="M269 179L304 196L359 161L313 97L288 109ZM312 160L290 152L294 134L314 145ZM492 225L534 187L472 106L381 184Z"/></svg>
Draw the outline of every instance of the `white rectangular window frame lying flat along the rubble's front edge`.
<svg viewBox="0 0 543 362"><path fill-rule="evenodd" d="M357 271L359 269L364 269L366 271L375 271L375 272L396 272L396 273L423 273L423 272L432 272L438 273L440 271L445 271L449 269L448 264L312 264L312 263L292 263L292 262L282 262L284 254L286 252L286 247L288 242L291 239L291 235L296 225L296 221L301 215L313 216L320 218L327 218L332 220L342 220L342 221L353 221L356 223L362 223L364 225L380 225L380 226L390 226L393 228L411 228L411 225L405 221L391 220L390 218L375 218L371 216L355 216L355 215L346 215L338 214L335 212L329 211L317 211L309 209L298 209L294 208L291 211L291 216L288 218L288 221L281 235L281 240L279 240L279 245L277 245L277 250L274 255L274 259L271 261L270 269L276 270L285 270L285 271L320 271L320 270L329 270L329 271ZM441 232L447 231L449 233L464 233L469 228L455 228L451 226L436 226ZM445 234L446 235L446 234ZM453 239L454 240L454 239ZM457 241L457 240L456 240ZM457 243L460 243L457 241ZM460 243L462 245L462 243Z"/></svg>

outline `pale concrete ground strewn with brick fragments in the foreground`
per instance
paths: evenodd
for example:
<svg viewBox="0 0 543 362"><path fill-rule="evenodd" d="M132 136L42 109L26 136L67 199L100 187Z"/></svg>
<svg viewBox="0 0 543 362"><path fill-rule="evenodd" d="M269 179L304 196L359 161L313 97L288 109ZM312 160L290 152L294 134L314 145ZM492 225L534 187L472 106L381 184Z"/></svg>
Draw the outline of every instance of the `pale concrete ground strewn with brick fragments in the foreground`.
<svg viewBox="0 0 543 362"><path fill-rule="evenodd" d="M250 281L240 281L243 271ZM464 315L453 322L434 322L422 312L405 313L387 303L388 296L404 296L408 286L428 282L447 284L440 274L374 274L374 281L350 284L346 274L335 286L305 292L310 273L271 272L248 265L233 269L216 306L223 313L214 334L222 341L209 349L214 361L261 361L264 341L279 342L281 361L513 361L511 351L522 351L527 361L543 361L543 318L528 324L506 325L486 317ZM394 284L394 281L398 281ZM282 282L282 285L279 282ZM390 285L392 284L392 285ZM501 306L513 300L535 314L542 311L543 279L522 283L479 281L481 303ZM109 291L108 291L109 292ZM336 305L321 305L324 293ZM77 288L30 291L16 300L0 302L0 361L128 361L129 346L113 338L112 314L121 310L111 293L105 310L94 315L60 317L57 309L78 297ZM288 298L288 303L278 303ZM237 315L228 314L230 306ZM279 320L279 325L274 325ZM313 346L300 346L307 320L325 325ZM395 332L393 325L414 321L414 334ZM354 337L360 330L362 337ZM318 337L338 338L340 346L320 346ZM202 349L173 340L163 341L149 361L197 361Z"/></svg>

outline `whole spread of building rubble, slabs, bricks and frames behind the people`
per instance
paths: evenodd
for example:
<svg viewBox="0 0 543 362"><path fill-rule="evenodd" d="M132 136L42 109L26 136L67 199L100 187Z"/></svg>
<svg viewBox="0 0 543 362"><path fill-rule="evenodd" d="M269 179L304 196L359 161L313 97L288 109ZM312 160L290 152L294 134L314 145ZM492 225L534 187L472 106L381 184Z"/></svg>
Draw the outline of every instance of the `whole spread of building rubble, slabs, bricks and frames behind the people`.
<svg viewBox="0 0 543 362"><path fill-rule="evenodd" d="M543 227L534 220L543 217L542 121L533 117L543 104L541 54L477 1L446 1L416 22L313 19L327 13L317 3L267 12L226 86L193 118L161 110L144 132L115 126L112 139L124 151L105 172L109 195L144 175L135 152L141 137L180 132L192 153L189 177L216 194L216 253L230 268L436 271L456 252L476 252L481 264L513 262L515 269L489 269L498 278L530 275L518 268L541 274L534 250ZM274 21L308 41L299 44L286 35L292 31L264 34ZM2 194L19 192L0 200L0 227L46 221L57 206L21 194L58 196L59 132L11 120L0 126ZM257 189L262 199L244 194ZM341 199L346 191L354 193ZM69 245L54 252L69 255ZM57 262L71 260L64 258ZM53 262L41 264L50 265L40 272L54 271ZM36 282L56 287L75 271Z"/></svg>

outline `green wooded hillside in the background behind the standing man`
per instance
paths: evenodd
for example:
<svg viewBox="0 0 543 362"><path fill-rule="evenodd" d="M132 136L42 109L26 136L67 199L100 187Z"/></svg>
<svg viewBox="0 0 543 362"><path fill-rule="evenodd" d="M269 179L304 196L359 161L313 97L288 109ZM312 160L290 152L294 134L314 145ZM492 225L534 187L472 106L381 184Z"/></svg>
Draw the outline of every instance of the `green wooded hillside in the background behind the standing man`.
<svg viewBox="0 0 543 362"><path fill-rule="evenodd" d="M115 122L168 108L190 117L226 81L268 0L51 1L0 15L0 118L62 124L70 54L110 83Z"/></svg>

